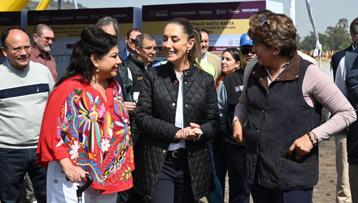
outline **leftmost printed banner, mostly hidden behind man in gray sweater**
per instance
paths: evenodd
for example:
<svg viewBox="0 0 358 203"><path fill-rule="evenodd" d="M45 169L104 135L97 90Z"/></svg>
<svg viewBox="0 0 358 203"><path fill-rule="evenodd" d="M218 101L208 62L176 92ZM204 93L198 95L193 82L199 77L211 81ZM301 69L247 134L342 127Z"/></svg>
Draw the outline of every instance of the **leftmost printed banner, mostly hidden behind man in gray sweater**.
<svg viewBox="0 0 358 203"><path fill-rule="evenodd" d="M5 28L21 24L21 11L0 12L0 35L3 34ZM0 42L0 47L3 45ZM0 52L0 64L6 60L3 52Z"/></svg>

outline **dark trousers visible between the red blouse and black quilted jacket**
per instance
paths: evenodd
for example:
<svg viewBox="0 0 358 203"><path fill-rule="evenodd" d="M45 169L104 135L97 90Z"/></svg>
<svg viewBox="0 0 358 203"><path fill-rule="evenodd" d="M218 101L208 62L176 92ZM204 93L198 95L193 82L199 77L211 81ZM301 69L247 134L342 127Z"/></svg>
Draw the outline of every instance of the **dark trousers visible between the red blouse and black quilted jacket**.
<svg viewBox="0 0 358 203"><path fill-rule="evenodd" d="M134 162L135 162L136 158L139 156L140 147L144 142L145 135L132 133L131 137L133 143L133 153L134 153ZM140 194L138 194L138 192L134 188L130 188L122 192L118 192L117 202L118 203L144 203L144 200L143 197Z"/></svg>

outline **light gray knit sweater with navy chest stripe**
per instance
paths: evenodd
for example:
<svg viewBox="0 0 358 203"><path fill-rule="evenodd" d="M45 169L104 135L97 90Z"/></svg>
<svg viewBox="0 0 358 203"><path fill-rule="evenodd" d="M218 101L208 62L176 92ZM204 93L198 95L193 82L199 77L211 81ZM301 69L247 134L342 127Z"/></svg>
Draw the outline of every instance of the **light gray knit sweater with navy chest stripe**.
<svg viewBox="0 0 358 203"><path fill-rule="evenodd" d="M0 65L0 148L37 148L42 116L54 85L49 69L30 61L18 71Z"/></svg>

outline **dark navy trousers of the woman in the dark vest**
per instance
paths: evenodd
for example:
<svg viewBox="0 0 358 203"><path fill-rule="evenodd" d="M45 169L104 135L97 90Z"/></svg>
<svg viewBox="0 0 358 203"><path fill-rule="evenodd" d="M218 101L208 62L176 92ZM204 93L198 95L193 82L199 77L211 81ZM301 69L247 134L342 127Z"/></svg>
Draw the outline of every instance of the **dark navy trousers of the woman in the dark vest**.
<svg viewBox="0 0 358 203"><path fill-rule="evenodd" d="M294 177L292 181L294 180ZM257 174L252 185L249 185L254 203L311 203L313 188L281 190L258 184Z"/></svg>

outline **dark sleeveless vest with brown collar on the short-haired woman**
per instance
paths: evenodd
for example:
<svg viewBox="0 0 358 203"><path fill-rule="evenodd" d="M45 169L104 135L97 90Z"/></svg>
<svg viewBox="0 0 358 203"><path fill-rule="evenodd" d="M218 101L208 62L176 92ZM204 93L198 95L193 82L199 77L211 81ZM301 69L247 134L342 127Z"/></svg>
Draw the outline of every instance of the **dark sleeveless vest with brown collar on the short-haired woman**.
<svg viewBox="0 0 358 203"><path fill-rule="evenodd" d="M318 146L296 160L293 142L320 125L322 105L310 107L302 83L312 64L296 54L268 86L267 72L258 63L247 82L246 149L240 173L248 184L276 189L311 188L318 182Z"/></svg>

